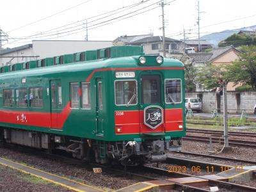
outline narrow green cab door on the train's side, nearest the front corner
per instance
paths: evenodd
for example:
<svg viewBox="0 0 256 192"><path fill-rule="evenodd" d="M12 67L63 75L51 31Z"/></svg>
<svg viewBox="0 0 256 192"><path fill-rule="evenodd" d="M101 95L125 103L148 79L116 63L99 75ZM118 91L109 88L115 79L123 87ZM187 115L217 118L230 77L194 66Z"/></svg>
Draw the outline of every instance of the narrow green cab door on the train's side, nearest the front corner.
<svg viewBox="0 0 256 192"><path fill-rule="evenodd" d="M104 118L102 117L102 110L104 108L102 104L102 79L97 78L95 80L96 84L96 127L95 132L96 136L103 136L104 135L104 129L103 129L103 121Z"/></svg>

